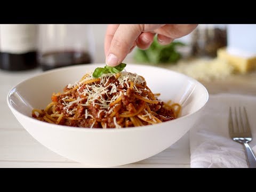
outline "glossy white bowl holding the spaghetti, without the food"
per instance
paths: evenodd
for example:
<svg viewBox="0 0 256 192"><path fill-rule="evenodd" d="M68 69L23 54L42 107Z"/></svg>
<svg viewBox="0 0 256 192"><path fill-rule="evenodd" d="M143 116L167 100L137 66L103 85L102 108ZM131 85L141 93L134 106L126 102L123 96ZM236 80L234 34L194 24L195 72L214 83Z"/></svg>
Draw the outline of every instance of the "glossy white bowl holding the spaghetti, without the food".
<svg viewBox="0 0 256 192"><path fill-rule="evenodd" d="M159 99L182 105L181 116L169 122L126 129L87 129L55 125L31 117L33 108L44 109L53 92L105 64L54 69L19 83L7 103L21 125L55 153L93 166L119 166L156 155L178 141L195 123L209 94L195 79L171 70L127 64L126 71L145 77Z"/></svg>

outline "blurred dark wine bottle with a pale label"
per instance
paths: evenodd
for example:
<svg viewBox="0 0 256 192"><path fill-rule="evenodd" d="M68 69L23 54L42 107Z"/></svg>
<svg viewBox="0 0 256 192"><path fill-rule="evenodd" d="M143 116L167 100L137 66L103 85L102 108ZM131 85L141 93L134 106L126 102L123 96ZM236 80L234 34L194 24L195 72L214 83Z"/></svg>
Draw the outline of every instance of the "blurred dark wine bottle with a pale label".
<svg viewBox="0 0 256 192"><path fill-rule="evenodd" d="M37 25L0 25L0 68L33 69L37 62Z"/></svg>

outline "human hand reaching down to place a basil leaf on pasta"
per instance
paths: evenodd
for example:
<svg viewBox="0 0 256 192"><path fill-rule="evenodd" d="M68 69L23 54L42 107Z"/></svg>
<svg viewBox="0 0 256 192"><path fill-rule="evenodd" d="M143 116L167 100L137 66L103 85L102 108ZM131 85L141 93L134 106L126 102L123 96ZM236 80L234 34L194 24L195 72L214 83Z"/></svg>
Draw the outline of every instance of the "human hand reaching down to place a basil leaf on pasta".
<svg viewBox="0 0 256 192"><path fill-rule="evenodd" d="M170 44L175 38L188 35L195 24L136 24L109 25L105 36L105 55L108 66L119 65L135 46L148 49L157 34L159 44Z"/></svg>

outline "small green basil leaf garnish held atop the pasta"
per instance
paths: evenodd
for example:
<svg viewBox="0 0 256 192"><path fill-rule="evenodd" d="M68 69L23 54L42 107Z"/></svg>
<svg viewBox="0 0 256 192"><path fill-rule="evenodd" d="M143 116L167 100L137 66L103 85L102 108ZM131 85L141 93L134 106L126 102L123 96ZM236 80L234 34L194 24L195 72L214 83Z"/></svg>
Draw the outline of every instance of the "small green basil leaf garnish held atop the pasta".
<svg viewBox="0 0 256 192"><path fill-rule="evenodd" d="M92 76L100 77L102 74L108 74L108 73L116 74L124 70L125 67L126 67L125 63L120 63L118 66L115 66L115 67L110 67L107 65L104 68L98 67L94 70Z"/></svg>

